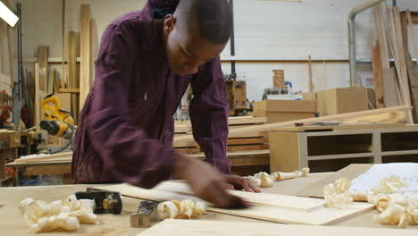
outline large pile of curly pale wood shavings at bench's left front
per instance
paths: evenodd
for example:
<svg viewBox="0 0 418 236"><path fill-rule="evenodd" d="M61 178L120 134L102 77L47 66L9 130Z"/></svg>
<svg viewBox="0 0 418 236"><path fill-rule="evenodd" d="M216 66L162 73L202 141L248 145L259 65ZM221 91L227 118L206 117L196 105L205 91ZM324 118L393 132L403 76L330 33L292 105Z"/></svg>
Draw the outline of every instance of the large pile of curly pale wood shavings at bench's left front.
<svg viewBox="0 0 418 236"><path fill-rule="evenodd" d="M79 223L98 223L93 214L94 200L78 200L75 195L47 204L41 200L26 198L18 208L33 232L76 231Z"/></svg>

